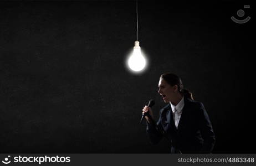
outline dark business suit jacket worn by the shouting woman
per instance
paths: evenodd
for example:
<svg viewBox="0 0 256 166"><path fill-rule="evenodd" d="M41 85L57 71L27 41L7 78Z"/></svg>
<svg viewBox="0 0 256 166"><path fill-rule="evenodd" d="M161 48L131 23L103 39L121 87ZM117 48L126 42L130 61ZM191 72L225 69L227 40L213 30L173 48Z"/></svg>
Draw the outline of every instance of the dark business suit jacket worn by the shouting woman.
<svg viewBox="0 0 256 166"><path fill-rule="evenodd" d="M157 123L147 123L147 134L152 144L162 137L170 140L171 153L211 153L215 136L203 103L184 98L184 107L178 129L170 103L160 110Z"/></svg>

